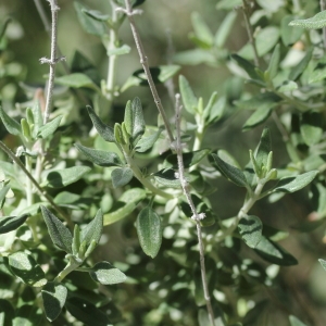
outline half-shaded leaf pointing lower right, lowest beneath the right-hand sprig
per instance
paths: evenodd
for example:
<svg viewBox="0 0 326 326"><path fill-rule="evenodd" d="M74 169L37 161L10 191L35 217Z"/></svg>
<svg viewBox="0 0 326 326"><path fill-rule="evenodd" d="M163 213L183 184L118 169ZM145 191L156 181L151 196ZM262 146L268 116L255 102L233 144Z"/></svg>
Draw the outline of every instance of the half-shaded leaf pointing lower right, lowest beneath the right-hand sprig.
<svg viewBox="0 0 326 326"><path fill-rule="evenodd" d="M261 237L261 241L253 250L261 258L272 264L280 266L291 266L298 264L298 261L290 253L264 236Z"/></svg>

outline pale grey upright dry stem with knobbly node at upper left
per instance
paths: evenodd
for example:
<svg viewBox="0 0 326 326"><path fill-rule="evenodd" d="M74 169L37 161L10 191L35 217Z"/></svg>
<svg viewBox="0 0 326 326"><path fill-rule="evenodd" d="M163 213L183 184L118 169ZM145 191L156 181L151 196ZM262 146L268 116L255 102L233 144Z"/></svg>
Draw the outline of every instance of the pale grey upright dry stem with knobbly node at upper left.
<svg viewBox="0 0 326 326"><path fill-rule="evenodd" d="M52 26L51 26L51 58L41 58L40 63L48 63L50 65L50 74L49 74L49 85L48 85L48 95L47 95L47 103L46 111L43 115L43 124L49 121L52 105L52 96L53 96L53 87L54 87L54 76L55 76L55 65L58 62L65 60L64 57L57 58L57 38L58 38L58 11L60 8L58 7L57 0L48 0L51 7L51 15L52 15Z"/></svg>

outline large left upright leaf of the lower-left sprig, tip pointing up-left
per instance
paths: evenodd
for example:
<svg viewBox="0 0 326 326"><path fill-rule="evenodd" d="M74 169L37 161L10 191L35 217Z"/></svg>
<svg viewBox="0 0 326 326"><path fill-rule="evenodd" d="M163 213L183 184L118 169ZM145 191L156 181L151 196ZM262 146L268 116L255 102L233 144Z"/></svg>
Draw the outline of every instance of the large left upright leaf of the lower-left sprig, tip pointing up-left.
<svg viewBox="0 0 326 326"><path fill-rule="evenodd" d="M40 206L52 242L61 250L72 253L73 237L68 228L46 206Z"/></svg>

